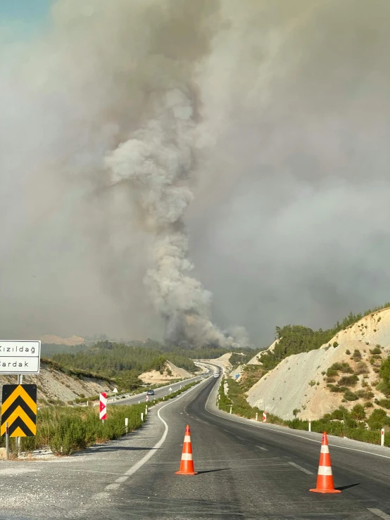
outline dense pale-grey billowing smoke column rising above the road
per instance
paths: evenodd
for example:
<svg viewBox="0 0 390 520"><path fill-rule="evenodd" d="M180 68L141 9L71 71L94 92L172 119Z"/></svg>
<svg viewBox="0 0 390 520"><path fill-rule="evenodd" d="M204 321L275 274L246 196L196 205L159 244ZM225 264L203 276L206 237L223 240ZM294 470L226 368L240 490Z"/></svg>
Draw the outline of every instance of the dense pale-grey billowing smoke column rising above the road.
<svg viewBox="0 0 390 520"><path fill-rule="evenodd" d="M164 65L166 74L170 63ZM151 99L153 118L110 153L106 165L113 184L130 182L146 228L156 236L156 268L149 269L146 284L166 320L166 339L227 345L232 338L225 338L209 319L210 293L189 276L194 266L188 260L183 218L193 196L181 183L194 169L193 95L184 77L177 87L171 82L158 87Z"/></svg>

